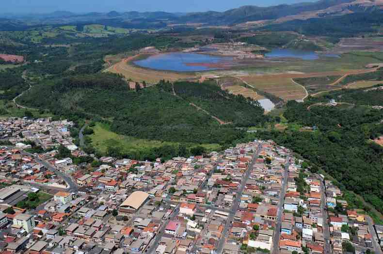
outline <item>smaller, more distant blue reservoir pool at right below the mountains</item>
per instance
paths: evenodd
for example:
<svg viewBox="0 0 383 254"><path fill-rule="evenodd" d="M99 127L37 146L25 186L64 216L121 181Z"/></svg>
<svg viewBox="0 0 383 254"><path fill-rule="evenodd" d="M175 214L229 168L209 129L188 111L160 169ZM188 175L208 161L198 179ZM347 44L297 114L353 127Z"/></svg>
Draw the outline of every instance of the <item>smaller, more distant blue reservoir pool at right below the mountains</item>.
<svg viewBox="0 0 383 254"><path fill-rule="evenodd" d="M319 57L339 57L335 54L318 54L314 51L302 51L286 48L274 48L271 52L266 53L267 58L300 58L302 60L316 60Z"/></svg>

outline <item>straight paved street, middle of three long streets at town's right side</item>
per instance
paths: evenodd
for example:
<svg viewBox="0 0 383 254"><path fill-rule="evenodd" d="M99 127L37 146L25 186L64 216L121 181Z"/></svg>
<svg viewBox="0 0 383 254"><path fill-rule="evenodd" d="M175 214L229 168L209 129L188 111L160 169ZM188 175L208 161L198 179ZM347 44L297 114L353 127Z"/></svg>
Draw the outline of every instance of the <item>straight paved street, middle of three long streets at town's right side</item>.
<svg viewBox="0 0 383 254"><path fill-rule="evenodd" d="M289 165L290 165L290 157L287 156L286 164L285 164L285 170L283 171L283 184L282 184L282 189L281 189L281 193L279 195L279 201L278 201L277 219L275 221L274 235L272 237L271 254L278 254L279 253L279 239L281 236L283 203L285 200L285 194L286 194L286 190L287 190L287 175L288 175L288 166Z"/></svg>

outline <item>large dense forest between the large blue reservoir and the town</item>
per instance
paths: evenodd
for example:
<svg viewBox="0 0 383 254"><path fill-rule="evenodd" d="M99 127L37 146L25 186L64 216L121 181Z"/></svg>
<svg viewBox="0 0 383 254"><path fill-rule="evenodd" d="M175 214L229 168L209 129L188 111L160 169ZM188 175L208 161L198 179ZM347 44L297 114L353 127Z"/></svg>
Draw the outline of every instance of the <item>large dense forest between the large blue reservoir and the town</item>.
<svg viewBox="0 0 383 254"><path fill-rule="evenodd" d="M176 83L179 89L181 83ZM217 95L219 89L209 84L182 83L191 100L224 119L234 114L233 124L220 125L210 116L197 110L169 92L171 84L162 81L158 86L142 90L128 90L127 83L118 75L78 75L35 85L19 102L71 119L101 118L112 122L112 131L138 138L193 143L231 144L242 131L236 126L255 126L266 123L263 109L241 96ZM218 88L218 87L217 87ZM186 90L185 90L186 92ZM226 93L222 93L223 95ZM200 94L201 95L201 94ZM211 100L217 97L217 101ZM45 100L44 98L50 98ZM223 102L230 110L223 110Z"/></svg>

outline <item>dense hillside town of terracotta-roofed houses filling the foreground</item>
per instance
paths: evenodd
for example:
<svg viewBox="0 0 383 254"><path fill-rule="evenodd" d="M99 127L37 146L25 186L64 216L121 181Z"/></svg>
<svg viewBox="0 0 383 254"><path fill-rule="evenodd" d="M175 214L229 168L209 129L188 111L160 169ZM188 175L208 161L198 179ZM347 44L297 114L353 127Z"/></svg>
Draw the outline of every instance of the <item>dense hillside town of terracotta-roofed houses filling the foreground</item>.
<svg viewBox="0 0 383 254"><path fill-rule="evenodd" d="M383 225L272 140L84 162L72 126L0 121L0 254L381 253Z"/></svg>

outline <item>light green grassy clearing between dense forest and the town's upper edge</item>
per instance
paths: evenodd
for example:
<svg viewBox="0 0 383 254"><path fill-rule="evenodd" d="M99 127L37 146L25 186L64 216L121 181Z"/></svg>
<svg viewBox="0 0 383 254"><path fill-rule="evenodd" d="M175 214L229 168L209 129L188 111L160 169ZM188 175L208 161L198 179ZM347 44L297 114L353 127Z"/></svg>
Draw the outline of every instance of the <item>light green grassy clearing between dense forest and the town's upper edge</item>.
<svg viewBox="0 0 383 254"><path fill-rule="evenodd" d="M106 153L108 147L115 147L122 152L140 151L142 149L153 149L163 145L178 145L173 142L162 142L158 140L140 139L131 136L116 134L110 131L107 124L96 123L93 127L94 134L90 135L93 146L97 151ZM195 147L198 144L190 144L189 147ZM221 148L218 144L202 144L208 151L219 150Z"/></svg>

